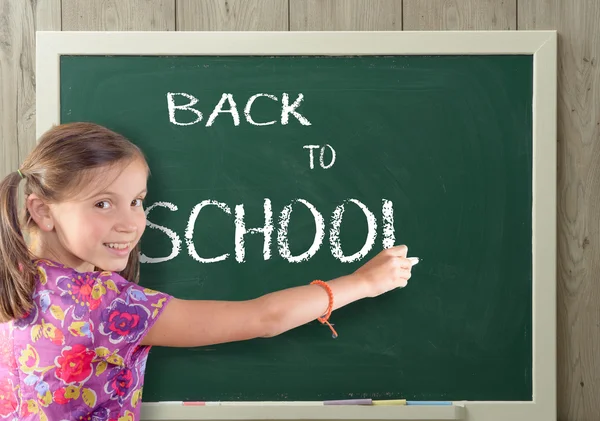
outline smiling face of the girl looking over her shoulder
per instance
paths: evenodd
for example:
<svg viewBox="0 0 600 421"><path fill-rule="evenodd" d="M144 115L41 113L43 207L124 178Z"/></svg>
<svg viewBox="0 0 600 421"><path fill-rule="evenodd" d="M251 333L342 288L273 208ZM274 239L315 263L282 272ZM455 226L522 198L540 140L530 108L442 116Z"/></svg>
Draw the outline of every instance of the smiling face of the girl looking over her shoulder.
<svg viewBox="0 0 600 421"><path fill-rule="evenodd" d="M51 204L54 230L49 247L60 263L79 271L96 266L121 271L146 227L142 200L146 196L146 166L135 159L125 168L101 173L111 183L101 190L83 186L72 200Z"/></svg>

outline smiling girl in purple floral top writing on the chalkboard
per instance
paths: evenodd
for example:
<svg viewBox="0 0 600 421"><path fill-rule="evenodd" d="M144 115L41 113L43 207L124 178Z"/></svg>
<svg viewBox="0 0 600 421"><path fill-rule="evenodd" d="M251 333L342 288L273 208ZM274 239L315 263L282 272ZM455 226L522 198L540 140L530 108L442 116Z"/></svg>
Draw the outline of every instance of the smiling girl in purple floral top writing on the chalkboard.
<svg viewBox="0 0 600 421"><path fill-rule="evenodd" d="M123 136L72 123L46 132L0 183L0 420L137 420L152 345L328 323L332 310L405 286L418 262L398 246L350 275L241 302L145 289L137 282L148 173Z"/></svg>

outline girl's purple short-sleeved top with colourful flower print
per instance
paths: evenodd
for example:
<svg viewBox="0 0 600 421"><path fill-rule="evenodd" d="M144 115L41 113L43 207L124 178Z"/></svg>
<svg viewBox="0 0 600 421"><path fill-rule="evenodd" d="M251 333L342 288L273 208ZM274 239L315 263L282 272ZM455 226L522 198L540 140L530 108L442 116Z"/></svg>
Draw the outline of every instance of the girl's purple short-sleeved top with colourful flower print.
<svg viewBox="0 0 600 421"><path fill-rule="evenodd" d="M144 335L170 296L37 260L34 307L0 323L0 420L139 420Z"/></svg>

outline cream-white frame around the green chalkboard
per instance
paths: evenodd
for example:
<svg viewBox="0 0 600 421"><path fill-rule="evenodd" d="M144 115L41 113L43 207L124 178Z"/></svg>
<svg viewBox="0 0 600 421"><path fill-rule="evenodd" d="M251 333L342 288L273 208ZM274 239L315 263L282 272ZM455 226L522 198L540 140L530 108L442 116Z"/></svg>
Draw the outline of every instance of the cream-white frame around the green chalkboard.
<svg viewBox="0 0 600 421"><path fill-rule="evenodd" d="M556 31L37 32L39 137L59 123L61 55L532 55L533 400L452 406L143 403L147 420L556 420Z"/></svg>

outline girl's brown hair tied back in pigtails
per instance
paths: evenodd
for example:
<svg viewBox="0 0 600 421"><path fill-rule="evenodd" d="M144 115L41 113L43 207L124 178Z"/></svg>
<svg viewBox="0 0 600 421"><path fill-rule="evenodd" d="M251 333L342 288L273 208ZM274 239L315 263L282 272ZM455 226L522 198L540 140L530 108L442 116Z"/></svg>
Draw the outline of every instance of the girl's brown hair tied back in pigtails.
<svg viewBox="0 0 600 421"><path fill-rule="evenodd" d="M46 203L68 198L77 187L98 176L98 170L134 159L146 160L141 150L122 135L93 123L54 126L40 138L19 171L0 182L0 322L23 317L33 306L37 269L22 228L34 228L27 209L18 217L18 186L25 197L35 193ZM138 282L139 244L121 275ZM101 268L99 268L101 269Z"/></svg>

